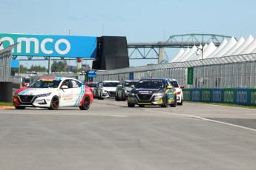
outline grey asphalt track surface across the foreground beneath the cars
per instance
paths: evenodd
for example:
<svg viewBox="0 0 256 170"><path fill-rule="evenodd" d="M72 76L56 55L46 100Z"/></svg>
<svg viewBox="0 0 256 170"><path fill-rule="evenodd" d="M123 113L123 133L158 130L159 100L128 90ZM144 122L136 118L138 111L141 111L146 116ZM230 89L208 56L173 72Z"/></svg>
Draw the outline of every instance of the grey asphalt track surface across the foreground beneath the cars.
<svg viewBox="0 0 256 170"><path fill-rule="evenodd" d="M0 169L256 169L256 110L114 99L79 108L0 109Z"/></svg>

